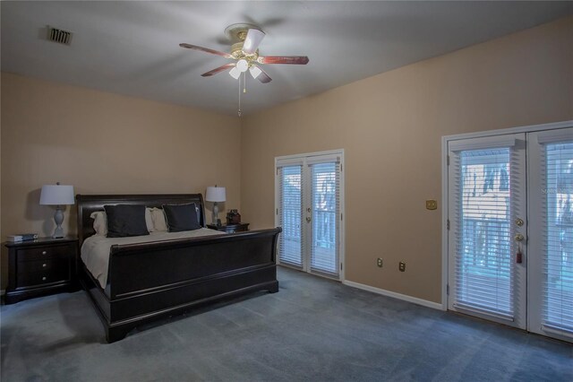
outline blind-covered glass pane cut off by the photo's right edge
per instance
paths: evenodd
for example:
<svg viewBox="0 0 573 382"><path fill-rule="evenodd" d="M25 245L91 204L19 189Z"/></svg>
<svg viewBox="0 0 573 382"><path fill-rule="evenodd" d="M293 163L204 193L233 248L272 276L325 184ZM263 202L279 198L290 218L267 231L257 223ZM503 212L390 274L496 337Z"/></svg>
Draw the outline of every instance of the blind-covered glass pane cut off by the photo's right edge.
<svg viewBox="0 0 573 382"><path fill-rule="evenodd" d="M543 325L573 333L573 143L545 147Z"/></svg>

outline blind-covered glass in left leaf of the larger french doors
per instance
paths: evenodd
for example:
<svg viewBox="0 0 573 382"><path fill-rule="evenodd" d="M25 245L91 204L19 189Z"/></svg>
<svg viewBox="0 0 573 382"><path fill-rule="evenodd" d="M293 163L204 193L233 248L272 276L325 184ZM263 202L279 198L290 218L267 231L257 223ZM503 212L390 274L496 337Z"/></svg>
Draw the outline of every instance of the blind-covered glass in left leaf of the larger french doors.
<svg viewBox="0 0 573 382"><path fill-rule="evenodd" d="M457 306L513 315L509 148L460 153Z"/></svg>

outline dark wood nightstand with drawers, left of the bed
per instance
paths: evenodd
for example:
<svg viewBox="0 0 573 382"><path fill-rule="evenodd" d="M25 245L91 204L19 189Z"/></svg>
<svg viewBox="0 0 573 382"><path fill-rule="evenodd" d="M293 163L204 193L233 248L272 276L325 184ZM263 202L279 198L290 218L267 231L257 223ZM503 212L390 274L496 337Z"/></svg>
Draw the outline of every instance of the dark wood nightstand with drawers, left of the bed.
<svg viewBox="0 0 573 382"><path fill-rule="evenodd" d="M60 291L77 291L78 239L7 241L6 304Z"/></svg>

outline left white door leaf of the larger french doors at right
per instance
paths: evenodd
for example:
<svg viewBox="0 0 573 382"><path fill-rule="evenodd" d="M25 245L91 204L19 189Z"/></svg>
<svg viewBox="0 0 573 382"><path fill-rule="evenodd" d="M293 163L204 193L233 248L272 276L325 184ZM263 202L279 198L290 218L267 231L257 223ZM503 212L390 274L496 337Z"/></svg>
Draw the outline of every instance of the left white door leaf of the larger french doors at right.
<svg viewBox="0 0 573 382"><path fill-rule="evenodd" d="M525 328L525 135L456 141L449 159L449 309Z"/></svg>

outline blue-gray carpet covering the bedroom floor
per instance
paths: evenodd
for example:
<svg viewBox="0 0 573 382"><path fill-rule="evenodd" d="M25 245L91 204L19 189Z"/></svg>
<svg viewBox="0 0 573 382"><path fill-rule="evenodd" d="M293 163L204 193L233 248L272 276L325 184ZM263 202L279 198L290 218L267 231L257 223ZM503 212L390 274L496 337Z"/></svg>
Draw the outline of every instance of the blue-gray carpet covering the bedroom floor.
<svg viewBox="0 0 573 382"><path fill-rule="evenodd" d="M281 268L255 293L105 343L83 291L1 308L9 381L573 381L573 345Z"/></svg>

